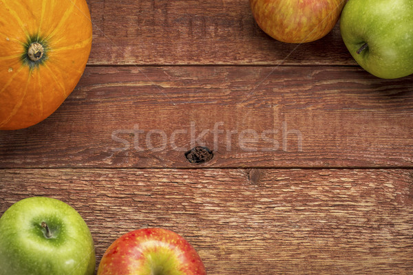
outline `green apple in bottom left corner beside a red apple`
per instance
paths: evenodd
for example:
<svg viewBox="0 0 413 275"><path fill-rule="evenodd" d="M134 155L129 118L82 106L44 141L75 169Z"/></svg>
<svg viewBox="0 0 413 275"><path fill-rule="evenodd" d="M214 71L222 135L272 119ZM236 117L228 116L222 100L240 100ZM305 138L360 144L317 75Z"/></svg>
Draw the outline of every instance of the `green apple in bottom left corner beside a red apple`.
<svg viewBox="0 0 413 275"><path fill-rule="evenodd" d="M95 263L89 228L63 201L22 199L0 218L1 275L88 275Z"/></svg>

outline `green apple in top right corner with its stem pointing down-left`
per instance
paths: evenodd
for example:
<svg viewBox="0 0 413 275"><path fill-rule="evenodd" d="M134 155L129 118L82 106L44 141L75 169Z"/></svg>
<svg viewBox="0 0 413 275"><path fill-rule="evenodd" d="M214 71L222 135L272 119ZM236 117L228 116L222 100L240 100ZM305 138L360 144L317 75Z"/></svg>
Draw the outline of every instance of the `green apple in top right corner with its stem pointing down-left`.
<svg viewBox="0 0 413 275"><path fill-rule="evenodd" d="M349 0L340 30L350 54L370 74L413 74L412 0Z"/></svg>

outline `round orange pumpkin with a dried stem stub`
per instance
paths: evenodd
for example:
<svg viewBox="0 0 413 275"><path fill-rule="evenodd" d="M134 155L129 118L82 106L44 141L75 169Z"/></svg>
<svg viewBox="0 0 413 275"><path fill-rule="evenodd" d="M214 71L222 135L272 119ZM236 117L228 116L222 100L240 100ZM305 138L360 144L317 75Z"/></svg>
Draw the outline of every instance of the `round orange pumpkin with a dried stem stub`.
<svg viewBox="0 0 413 275"><path fill-rule="evenodd" d="M32 126L56 111L91 46L85 0L0 0L0 129Z"/></svg>

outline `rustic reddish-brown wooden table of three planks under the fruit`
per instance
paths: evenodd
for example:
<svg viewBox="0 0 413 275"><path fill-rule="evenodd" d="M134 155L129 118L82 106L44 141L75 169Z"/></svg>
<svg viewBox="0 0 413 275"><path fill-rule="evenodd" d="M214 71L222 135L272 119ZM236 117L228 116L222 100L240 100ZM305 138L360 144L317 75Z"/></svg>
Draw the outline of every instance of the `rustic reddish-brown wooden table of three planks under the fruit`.
<svg viewBox="0 0 413 275"><path fill-rule="evenodd" d="M354 63L338 25L279 43L248 1L88 0L92 53L47 120L0 132L0 214L70 203L97 263L168 228L209 274L413 274L413 77ZM213 158L191 164L206 146Z"/></svg>

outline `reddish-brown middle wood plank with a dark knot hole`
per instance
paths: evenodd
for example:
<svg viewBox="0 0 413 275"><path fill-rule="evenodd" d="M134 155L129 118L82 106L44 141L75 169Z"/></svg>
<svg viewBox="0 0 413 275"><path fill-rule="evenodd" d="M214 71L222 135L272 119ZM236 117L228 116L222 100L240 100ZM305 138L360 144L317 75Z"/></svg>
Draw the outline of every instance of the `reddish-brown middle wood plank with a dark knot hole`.
<svg viewBox="0 0 413 275"><path fill-rule="evenodd" d="M0 167L411 167L413 77L354 67L88 67Z"/></svg>

